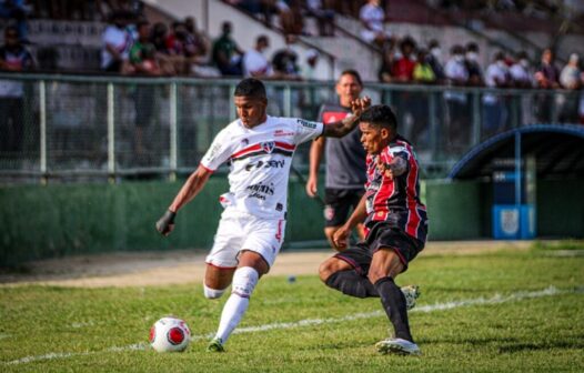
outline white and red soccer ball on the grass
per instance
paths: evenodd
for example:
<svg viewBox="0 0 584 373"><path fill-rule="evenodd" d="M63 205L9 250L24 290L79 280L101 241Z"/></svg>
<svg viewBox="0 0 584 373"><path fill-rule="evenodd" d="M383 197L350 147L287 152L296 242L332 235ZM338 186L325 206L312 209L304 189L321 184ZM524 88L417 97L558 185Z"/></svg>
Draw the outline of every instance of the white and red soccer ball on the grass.
<svg viewBox="0 0 584 373"><path fill-rule="evenodd" d="M183 320L162 317L150 327L150 345L158 352L182 352L191 342L191 331Z"/></svg>

